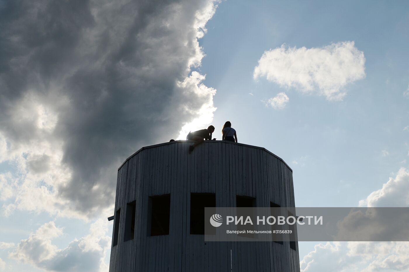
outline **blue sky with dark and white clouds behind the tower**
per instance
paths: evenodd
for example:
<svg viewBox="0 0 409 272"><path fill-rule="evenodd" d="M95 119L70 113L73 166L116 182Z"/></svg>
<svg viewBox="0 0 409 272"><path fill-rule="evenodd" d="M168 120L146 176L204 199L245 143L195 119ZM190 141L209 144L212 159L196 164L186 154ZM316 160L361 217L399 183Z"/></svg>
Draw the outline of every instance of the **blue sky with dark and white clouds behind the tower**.
<svg viewBox="0 0 409 272"><path fill-rule="evenodd" d="M0 1L0 271L108 271L117 168L229 120L299 207L409 206L407 1ZM301 271L409 243L299 242Z"/></svg>

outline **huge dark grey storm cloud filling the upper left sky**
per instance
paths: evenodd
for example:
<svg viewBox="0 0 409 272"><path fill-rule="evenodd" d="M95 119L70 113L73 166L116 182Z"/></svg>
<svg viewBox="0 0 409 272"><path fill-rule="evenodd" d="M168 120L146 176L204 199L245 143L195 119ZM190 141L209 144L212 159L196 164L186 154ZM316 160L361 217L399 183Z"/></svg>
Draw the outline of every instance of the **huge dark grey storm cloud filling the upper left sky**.
<svg viewBox="0 0 409 272"><path fill-rule="evenodd" d="M175 138L209 100L178 85L200 64L197 31L214 11L209 1L0 5L0 132L11 148L45 137L16 117L22 101L58 116L47 140L61 143L72 170L69 182L54 184L72 209L110 205L119 164L143 145ZM29 167L43 171L45 158Z"/></svg>

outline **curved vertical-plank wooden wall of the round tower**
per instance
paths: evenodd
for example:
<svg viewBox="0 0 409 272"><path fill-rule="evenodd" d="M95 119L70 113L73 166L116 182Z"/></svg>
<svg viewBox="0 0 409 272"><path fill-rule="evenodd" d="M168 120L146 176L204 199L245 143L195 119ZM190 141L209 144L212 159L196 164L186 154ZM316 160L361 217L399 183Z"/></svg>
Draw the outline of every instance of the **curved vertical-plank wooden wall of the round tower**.
<svg viewBox="0 0 409 272"><path fill-rule="evenodd" d="M191 144L143 147L119 167L119 238L109 271L300 271L298 244L292 250L289 242L205 242L189 234L191 192L215 193L218 207L234 207L236 195L255 197L257 207L295 207L290 167L261 147L207 141L189 154ZM169 235L147 236L148 197L162 194L171 194ZM126 204L134 200L135 238L124 242Z"/></svg>

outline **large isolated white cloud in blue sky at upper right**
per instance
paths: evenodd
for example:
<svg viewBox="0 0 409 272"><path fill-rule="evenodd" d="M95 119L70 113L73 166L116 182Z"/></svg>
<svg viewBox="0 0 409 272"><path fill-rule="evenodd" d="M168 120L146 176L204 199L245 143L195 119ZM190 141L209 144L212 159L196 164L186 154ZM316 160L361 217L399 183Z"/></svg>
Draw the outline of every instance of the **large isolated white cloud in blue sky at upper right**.
<svg viewBox="0 0 409 272"><path fill-rule="evenodd" d="M353 41L308 49L282 45L264 52L253 76L265 76L282 87L297 87L305 94L342 100L344 87L365 77L365 57Z"/></svg>

